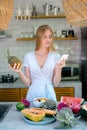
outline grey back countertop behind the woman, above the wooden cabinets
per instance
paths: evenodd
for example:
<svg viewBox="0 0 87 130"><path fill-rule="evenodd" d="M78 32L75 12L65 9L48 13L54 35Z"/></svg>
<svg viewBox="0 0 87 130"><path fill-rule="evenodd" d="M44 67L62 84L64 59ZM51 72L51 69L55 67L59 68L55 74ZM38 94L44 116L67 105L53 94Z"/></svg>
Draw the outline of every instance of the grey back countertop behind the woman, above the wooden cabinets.
<svg viewBox="0 0 87 130"><path fill-rule="evenodd" d="M82 97L82 83L81 81L61 81L59 87L74 87L75 97ZM14 83L0 83L0 88L28 88L20 79Z"/></svg>

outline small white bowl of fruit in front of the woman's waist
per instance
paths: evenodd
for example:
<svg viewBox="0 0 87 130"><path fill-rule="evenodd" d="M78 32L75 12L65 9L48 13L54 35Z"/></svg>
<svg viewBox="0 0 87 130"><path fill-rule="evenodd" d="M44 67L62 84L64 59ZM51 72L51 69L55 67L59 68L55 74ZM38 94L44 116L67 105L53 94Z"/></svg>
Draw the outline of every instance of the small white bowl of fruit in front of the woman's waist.
<svg viewBox="0 0 87 130"><path fill-rule="evenodd" d="M44 98L44 97L34 98L33 106L34 107L42 107L46 100L47 100L47 98Z"/></svg>

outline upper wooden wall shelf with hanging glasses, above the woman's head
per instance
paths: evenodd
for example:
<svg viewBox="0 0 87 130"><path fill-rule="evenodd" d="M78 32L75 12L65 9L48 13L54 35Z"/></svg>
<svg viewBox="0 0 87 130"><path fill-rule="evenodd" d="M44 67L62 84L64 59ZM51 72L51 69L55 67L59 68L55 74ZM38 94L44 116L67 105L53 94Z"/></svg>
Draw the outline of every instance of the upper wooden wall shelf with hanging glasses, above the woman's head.
<svg viewBox="0 0 87 130"><path fill-rule="evenodd" d="M44 19L44 18L65 18L65 15L64 14L58 14L58 15L49 15L49 16L45 16L45 15L37 15L37 16L15 16L16 19Z"/></svg>

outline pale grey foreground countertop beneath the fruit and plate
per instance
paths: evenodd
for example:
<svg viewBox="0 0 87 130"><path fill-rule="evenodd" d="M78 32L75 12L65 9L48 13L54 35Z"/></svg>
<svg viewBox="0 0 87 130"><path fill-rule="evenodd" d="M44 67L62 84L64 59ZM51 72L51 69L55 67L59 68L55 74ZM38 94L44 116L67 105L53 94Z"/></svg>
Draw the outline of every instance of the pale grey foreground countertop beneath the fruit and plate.
<svg viewBox="0 0 87 130"><path fill-rule="evenodd" d="M3 104L7 103L11 104L12 102L3 102ZM54 127L58 124L58 122L56 121L47 125L31 125L24 120L21 112L16 110L16 102L12 104L13 105L10 108L9 112L6 114L5 118L0 122L1 130L54 130ZM87 130L87 121L79 119L78 124L70 130Z"/></svg>

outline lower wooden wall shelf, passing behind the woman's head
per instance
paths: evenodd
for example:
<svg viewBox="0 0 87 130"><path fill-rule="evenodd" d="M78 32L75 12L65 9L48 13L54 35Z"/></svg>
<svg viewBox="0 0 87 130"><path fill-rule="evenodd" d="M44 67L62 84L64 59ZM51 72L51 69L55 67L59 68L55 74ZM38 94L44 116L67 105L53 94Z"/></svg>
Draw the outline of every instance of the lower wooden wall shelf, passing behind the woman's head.
<svg viewBox="0 0 87 130"><path fill-rule="evenodd" d="M34 41L35 38L17 38L16 41ZM54 40L78 40L77 37L66 37L66 38L58 38L55 37Z"/></svg>

